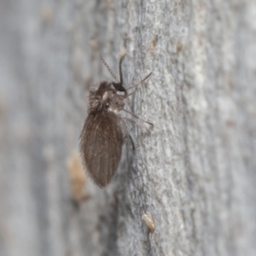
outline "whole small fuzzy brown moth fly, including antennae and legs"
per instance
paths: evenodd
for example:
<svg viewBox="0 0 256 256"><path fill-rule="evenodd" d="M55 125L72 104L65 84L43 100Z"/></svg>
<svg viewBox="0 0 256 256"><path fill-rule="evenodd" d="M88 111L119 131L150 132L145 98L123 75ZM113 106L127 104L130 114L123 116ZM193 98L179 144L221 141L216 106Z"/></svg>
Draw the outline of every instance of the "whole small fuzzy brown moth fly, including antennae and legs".
<svg viewBox="0 0 256 256"><path fill-rule="evenodd" d="M132 119L122 117L119 112L125 111L139 119L136 114L125 109L124 101L129 96L127 90L136 87L137 84L127 90L123 86L122 61L124 57L125 55L119 61L118 81L101 55L104 65L116 81L103 81L90 90L88 116L80 135L80 154L84 167L93 181L101 188L110 183L119 166L122 146L126 138L130 137L127 131L127 121L136 123ZM151 73L138 84L148 79L150 75ZM148 125L153 125L148 121L143 121Z"/></svg>

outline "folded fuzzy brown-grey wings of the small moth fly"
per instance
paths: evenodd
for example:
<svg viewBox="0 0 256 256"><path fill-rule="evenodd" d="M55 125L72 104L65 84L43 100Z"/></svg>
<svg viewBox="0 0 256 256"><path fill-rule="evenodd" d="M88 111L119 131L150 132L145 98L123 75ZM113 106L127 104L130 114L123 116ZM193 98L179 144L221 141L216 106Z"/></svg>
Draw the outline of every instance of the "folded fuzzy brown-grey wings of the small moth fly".
<svg viewBox="0 0 256 256"><path fill-rule="evenodd" d="M102 188L119 166L123 143L118 116L111 112L88 115L80 136L80 152L87 172Z"/></svg>

